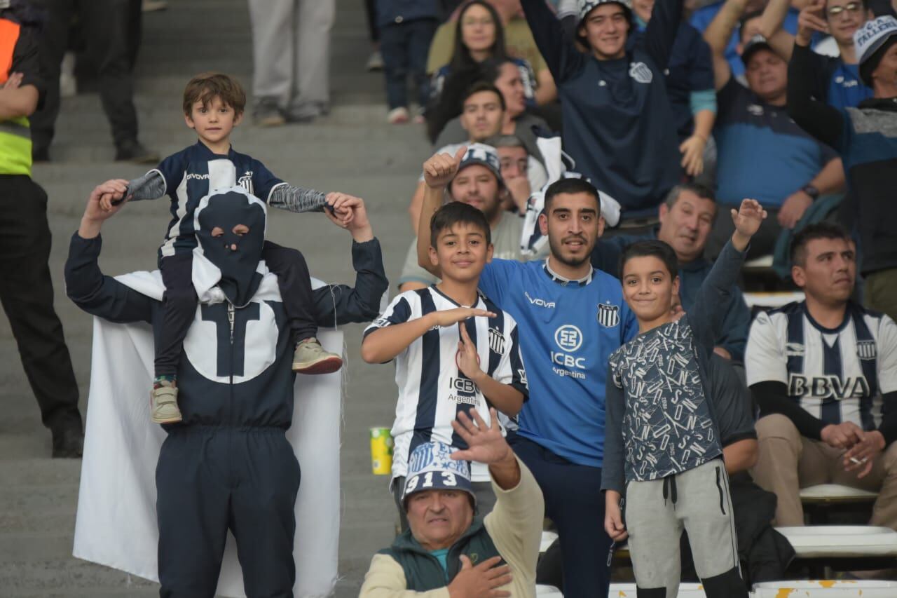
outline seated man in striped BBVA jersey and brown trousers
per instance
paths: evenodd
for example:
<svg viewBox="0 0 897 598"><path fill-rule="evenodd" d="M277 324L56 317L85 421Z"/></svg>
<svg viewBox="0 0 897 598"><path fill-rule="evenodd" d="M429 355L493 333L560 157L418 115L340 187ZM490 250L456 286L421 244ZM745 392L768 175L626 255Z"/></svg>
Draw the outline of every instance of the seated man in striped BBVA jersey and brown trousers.
<svg viewBox="0 0 897 598"><path fill-rule="evenodd" d="M806 300L761 313L747 341L753 478L778 497L779 525L803 525L799 489L831 482L879 491L871 523L897 529L897 326L850 301L857 261L840 227L806 227L791 263Z"/></svg>

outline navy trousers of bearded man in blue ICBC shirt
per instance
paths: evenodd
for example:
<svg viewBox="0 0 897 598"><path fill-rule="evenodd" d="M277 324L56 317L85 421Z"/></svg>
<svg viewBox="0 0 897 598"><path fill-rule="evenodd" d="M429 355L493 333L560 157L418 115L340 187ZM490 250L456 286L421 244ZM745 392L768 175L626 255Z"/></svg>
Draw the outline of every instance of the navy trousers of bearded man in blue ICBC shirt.
<svg viewBox="0 0 897 598"><path fill-rule="evenodd" d="M610 589L601 468L577 465L520 435L508 436L542 488L545 514L557 526L563 558L565 598L605 598Z"/></svg>

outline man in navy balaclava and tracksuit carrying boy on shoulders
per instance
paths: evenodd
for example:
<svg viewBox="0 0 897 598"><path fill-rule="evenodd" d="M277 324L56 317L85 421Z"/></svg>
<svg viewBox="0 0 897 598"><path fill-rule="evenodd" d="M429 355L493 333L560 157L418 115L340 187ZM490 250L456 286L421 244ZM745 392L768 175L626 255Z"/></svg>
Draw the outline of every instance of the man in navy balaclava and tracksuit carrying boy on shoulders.
<svg viewBox="0 0 897 598"><path fill-rule="evenodd" d="M91 193L65 264L68 295L100 318L159 326L161 301L100 272L100 227L118 211L100 208L103 193L121 194L114 181ZM332 207L328 217L353 234L356 284L319 288L312 312L327 326L370 321L388 286L379 242L360 199ZM163 597L213 597L229 529L246 594L292 596L300 468L284 431L295 374L277 280L259 262L265 215L265 205L241 188L214 191L196 210L199 306L178 372L183 420L164 426L156 466Z"/></svg>

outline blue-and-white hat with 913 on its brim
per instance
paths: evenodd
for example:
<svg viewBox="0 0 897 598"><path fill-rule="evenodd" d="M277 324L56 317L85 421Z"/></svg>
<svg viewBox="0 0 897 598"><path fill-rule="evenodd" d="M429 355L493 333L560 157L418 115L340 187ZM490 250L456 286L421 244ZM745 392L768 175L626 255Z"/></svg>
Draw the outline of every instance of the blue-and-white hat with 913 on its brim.
<svg viewBox="0 0 897 598"><path fill-rule="evenodd" d="M474 498L474 487L470 482L470 467L466 461L454 460L451 453L455 449L445 443L431 442L419 444L408 457L408 475L402 490L402 504L405 499L424 490L464 490Z"/></svg>

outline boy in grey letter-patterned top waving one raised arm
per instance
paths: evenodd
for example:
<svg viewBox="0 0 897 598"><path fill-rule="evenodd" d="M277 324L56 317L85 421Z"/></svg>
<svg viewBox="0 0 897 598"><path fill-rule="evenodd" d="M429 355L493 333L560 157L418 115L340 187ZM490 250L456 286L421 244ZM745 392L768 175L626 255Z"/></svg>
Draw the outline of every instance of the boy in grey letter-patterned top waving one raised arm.
<svg viewBox="0 0 897 598"><path fill-rule="evenodd" d="M710 356L722 306L764 217L754 199L732 210L736 231L692 311L678 319L671 310L679 285L672 248L637 242L620 259L623 295L640 334L608 359L601 489L605 530L614 541L629 537L640 598L677 595L683 528L708 597L747 596L714 420L731 395L711 392L719 373Z"/></svg>

